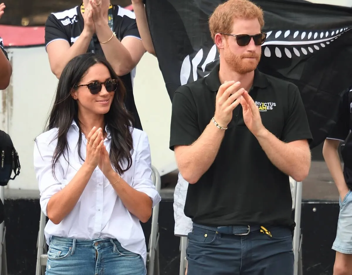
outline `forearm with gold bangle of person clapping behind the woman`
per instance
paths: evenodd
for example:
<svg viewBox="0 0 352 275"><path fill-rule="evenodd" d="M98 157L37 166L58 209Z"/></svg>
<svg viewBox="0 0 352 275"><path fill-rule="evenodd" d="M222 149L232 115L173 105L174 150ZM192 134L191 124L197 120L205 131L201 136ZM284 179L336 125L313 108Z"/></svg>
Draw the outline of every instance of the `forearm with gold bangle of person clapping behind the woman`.
<svg viewBox="0 0 352 275"><path fill-rule="evenodd" d="M108 41L112 36L110 27L104 23L97 23L95 33L100 42ZM107 43L100 43L107 61L112 65L118 76L128 74L134 67L130 52L115 36Z"/></svg>

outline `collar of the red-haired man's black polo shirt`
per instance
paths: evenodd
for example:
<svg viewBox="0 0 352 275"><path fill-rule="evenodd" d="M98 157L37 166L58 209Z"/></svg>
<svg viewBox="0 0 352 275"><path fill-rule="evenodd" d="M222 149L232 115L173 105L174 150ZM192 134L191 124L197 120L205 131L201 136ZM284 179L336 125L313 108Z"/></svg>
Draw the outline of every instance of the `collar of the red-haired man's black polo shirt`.
<svg viewBox="0 0 352 275"><path fill-rule="evenodd" d="M206 76L206 84L212 92L217 92L221 86L219 79L220 63L215 65L214 69ZM252 87L266 88L268 86L268 79L265 74L261 73L257 68L254 70L254 80Z"/></svg>

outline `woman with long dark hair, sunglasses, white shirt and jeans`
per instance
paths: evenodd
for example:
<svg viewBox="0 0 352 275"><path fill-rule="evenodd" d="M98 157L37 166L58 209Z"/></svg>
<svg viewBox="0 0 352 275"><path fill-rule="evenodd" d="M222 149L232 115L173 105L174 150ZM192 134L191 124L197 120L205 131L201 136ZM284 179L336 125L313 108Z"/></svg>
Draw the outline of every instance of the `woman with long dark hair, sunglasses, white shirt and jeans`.
<svg viewBox="0 0 352 275"><path fill-rule="evenodd" d="M146 274L146 222L160 196L146 134L131 127L125 88L104 57L73 58L48 127L36 138L40 206L49 217L47 275Z"/></svg>

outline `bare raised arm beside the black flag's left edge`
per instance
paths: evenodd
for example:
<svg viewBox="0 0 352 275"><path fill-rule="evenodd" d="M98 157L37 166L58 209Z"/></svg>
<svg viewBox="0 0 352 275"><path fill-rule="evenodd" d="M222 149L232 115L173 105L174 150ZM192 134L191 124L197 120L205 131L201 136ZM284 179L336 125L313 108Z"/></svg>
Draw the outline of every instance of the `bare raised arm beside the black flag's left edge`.
<svg viewBox="0 0 352 275"><path fill-rule="evenodd" d="M147 52L155 55L154 45L150 36L147 16L145 14L145 7L143 2L133 3L133 12L136 14L136 22L140 37L142 38L143 46Z"/></svg>

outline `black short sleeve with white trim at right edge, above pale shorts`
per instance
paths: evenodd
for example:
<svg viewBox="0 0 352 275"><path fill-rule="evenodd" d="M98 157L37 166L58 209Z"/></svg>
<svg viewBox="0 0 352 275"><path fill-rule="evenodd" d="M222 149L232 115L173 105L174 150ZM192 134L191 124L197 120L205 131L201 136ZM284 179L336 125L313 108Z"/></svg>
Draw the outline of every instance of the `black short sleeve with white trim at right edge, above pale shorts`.
<svg viewBox="0 0 352 275"><path fill-rule="evenodd" d="M337 123L328 134L328 139L345 141L350 132L350 102L348 100L349 90L346 90L340 98Z"/></svg>

